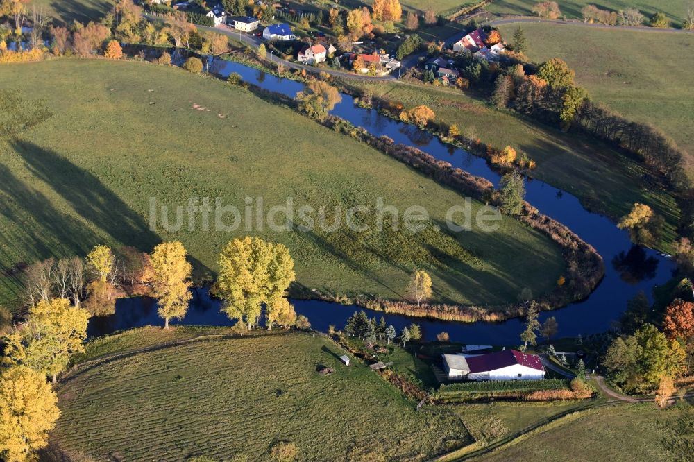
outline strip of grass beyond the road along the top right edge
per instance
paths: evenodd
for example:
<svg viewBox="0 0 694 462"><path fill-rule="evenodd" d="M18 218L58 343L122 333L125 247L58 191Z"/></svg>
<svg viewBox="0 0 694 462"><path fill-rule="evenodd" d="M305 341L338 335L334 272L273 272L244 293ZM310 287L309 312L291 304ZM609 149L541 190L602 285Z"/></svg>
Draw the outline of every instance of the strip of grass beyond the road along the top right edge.
<svg viewBox="0 0 694 462"><path fill-rule="evenodd" d="M538 3L535 0L493 0L486 10L498 15L533 15L532 8ZM561 13L567 19L583 19L581 10L586 5L596 5L604 10L625 10L636 8L650 19L656 12L663 12L670 20L679 26L684 20L689 0L561 0L559 2Z"/></svg>

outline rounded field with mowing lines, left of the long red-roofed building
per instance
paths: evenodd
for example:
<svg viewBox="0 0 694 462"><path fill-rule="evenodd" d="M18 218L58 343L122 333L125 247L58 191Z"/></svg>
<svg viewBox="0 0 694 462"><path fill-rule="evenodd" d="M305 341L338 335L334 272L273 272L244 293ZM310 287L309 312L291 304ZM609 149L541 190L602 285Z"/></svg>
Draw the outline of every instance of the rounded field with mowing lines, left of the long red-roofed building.
<svg viewBox="0 0 694 462"><path fill-rule="evenodd" d="M471 443L446 409L416 411L396 388L312 334L198 341L87 368L58 388L51 443L97 460L269 460L279 440L305 461L431 459ZM335 373L316 373L319 364Z"/></svg>

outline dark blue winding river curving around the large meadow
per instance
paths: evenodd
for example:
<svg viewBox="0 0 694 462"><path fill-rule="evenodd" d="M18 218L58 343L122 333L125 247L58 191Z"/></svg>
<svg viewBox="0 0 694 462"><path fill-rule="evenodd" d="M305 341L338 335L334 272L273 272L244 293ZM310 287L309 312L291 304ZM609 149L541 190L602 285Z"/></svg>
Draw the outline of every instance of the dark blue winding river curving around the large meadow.
<svg viewBox="0 0 694 462"><path fill-rule="evenodd" d="M286 78L279 78L262 71L226 60L214 60L210 71L221 76L232 72L240 74L244 81L263 89L294 97L303 89L303 84ZM342 95L342 101L332 111L355 126L369 130L373 135L386 135L396 143L420 148L437 159L450 162L455 167L487 178L498 185L500 176L487 166L486 161L458 148L443 144L437 137L419 130L415 126L394 121L375 110L355 106L352 96ZM669 257L654 250L632 245L627 232L619 230L607 217L588 212L579 200L564 191L539 180L531 180L526 185L526 199L542 213L552 216L579 234L602 255L605 262L605 275L591 296L568 307L541 314L541 321L555 316L559 323L559 336L577 336L604 332L611 327L624 311L627 300L638 291L650 296L652 287L667 282L672 277L675 264ZM292 300L298 314L307 316L317 330L328 330L328 325L341 328L348 316L357 309L355 306L339 305L319 300ZM416 322L422 327L425 339L434 339L436 334L446 331L454 341L477 344L515 344L523 329L518 319L503 323L457 323L425 318L408 318L382 311L364 309L369 317L384 316L387 323L398 331L409 323ZM93 318L89 334L102 335L116 330L143 325L160 325L155 302L146 298L128 298L117 302L112 316ZM219 301L211 299L203 290L195 292L187 316L179 324L186 325L231 325L226 315L219 312Z"/></svg>

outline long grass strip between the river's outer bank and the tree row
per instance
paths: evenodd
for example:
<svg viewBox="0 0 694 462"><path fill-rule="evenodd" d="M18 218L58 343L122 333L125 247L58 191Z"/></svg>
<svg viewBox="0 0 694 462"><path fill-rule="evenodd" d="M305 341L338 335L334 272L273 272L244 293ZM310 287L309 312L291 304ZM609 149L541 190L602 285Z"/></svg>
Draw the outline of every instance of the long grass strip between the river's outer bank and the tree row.
<svg viewBox="0 0 694 462"><path fill-rule="evenodd" d="M679 209L671 196L639 187L643 169L600 142L566 134L493 110L455 90L410 85L365 85L376 96L402 102L406 108L425 104L437 118L456 123L462 133L482 142L521 148L537 162L533 175L591 204L593 209L620 217L635 202L647 203L668 219L662 248L675 239ZM618 159L618 162L615 162Z"/></svg>

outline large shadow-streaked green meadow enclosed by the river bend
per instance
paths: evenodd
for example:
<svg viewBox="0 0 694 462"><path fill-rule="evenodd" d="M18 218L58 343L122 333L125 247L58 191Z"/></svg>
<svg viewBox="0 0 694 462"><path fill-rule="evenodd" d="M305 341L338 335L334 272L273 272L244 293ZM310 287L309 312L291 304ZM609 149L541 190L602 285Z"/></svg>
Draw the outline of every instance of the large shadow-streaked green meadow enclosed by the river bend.
<svg viewBox="0 0 694 462"><path fill-rule="evenodd" d="M290 110L180 69L54 60L3 66L0 79L46 98L56 113L22 142L1 148L0 194L9 205L0 216L1 264L85 255L102 241L149 251L162 239L180 239L198 267L214 271L228 240L256 232L245 225L205 232L199 220L196 230L151 232L151 197L183 206L191 196L219 196L243 209L244 198L262 196L265 210L289 196L295 209L373 209L382 197L400 210L425 205L436 222L462 200ZM392 298L402 296L415 267L432 271L439 300L493 304L515 300L524 286L550 289L564 265L548 239L506 218L498 232L455 237L433 228L367 236L344 230L257 234L289 246L298 282Z"/></svg>

